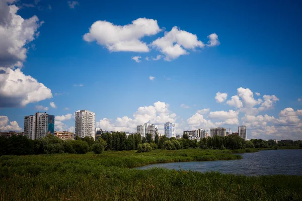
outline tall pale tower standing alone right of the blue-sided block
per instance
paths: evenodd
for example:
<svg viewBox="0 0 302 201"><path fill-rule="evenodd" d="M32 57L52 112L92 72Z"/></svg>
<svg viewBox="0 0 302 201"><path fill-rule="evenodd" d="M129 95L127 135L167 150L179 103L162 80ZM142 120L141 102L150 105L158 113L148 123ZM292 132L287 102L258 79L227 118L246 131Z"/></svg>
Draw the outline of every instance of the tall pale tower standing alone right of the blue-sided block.
<svg viewBox="0 0 302 201"><path fill-rule="evenodd" d="M88 110L75 112L75 136L84 138L85 136L95 139L96 115Z"/></svg>

